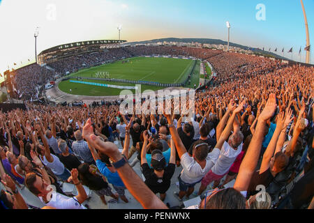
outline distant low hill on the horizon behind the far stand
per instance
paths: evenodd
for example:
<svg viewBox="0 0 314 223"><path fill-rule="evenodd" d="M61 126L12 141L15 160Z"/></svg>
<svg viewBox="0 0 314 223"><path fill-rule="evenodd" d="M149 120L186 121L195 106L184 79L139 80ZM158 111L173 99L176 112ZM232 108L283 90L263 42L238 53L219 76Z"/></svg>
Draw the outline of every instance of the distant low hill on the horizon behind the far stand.
<svg viewBox="0 0 314 223"><path fill-rule="evenodd" d="M147 44L147 43L158 43L158 42L179 42L179 43L203 43L203 44L215 44L215 45L227 45L226 41L218 40L218 39L209 39L209 38L161 38L161 39L155 39L155 40L146 40L146 41L139 41L139 42L131 42L130 44ZM237 43L229 43L232 47L239 47L241 49L251 49L255 54L262 54L264 56L273 56L278 59L285 59L289 60L283 56L280 56L278 54L274 54L273 52L267 52L262 49L257 49L253 47L248 47L244 45L239 45Z"/></svg>

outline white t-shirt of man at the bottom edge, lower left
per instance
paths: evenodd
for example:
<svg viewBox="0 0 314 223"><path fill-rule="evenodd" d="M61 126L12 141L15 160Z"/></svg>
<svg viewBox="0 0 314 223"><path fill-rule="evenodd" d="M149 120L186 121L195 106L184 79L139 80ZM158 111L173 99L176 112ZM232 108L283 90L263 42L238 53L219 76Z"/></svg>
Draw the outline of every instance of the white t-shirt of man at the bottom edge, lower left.
<svg viewBox="0 0 314 223"><path fill-rule="evenodd" d="M39 199L43 201L43 198L39 197ZM52 192L52 198L46 206L57 209L87 209L76 200L76 197L66 197L58 192Z"/></svg>

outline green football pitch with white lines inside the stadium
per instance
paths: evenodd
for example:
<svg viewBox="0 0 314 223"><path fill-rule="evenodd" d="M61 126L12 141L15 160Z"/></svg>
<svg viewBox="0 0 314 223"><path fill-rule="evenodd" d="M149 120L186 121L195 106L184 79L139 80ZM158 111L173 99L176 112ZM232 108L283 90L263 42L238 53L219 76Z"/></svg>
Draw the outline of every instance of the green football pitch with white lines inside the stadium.
<svg viewBox="0 0 314 223"><path fill-rule="evenodd" d="M126 61L123 63L123 61ZM94 82L101 84L113 84L122 86L135 86L135 84L121 82L105 82L102 80L84 79L84 77L96 77L97 72L108 72L110 78L129 79L137 81L158 82L163 84L174 84L184 82L184 79L193 69L193 60L173 59L173 58L151 58L136 57L124 59L114 63L107 63L102 66L79 70L68 75L68 77L82 77L84 82ZM195 70L191 78L191 83L187 88L193 88L194 84L198 86L200 78L200 62L197 61ZM71 79L59 83L59 89L63 92L73 95L119 95L121 89L107 88L104 86L92 86L88 84L78 84L70 82ZM73 78L73 80L75 80ZM141 86L142 91L147 89L156 91L163 89L161 86ZM135 93L135 90L132 90Z"/></svg>

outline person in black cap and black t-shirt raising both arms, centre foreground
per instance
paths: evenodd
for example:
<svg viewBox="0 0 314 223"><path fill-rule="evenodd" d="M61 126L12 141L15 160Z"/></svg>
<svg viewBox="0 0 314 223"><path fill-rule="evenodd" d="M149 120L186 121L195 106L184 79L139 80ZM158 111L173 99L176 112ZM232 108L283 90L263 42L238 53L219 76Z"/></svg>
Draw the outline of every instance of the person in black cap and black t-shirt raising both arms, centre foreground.
<svg viewBox="0 0 314 223"><path fill-rule="evenodd" d="M145 184L149 189L154 192L154 194L160 194L160 200L164 201L166 192L170 187L171 178L174 174L175 170L175 147L174 142L171 139L171 155L169 164L166 167L165 157L163 153L159 150L155 150L151 153L151 166L153 169L149 168L146 159L147 153L147 141L148 134L147 130L143 134L144 144L141 153L141 164L142 164L142 172L145 177Z"/></svg>

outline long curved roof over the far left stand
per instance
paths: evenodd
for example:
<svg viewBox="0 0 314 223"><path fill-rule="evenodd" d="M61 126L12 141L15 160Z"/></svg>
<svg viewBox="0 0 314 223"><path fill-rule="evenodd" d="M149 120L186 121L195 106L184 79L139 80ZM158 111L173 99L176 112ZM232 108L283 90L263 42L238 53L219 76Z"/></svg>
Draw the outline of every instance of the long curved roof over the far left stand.
<svg viewBox="0 0 314 223"><path fill-rule="evenodd" d="M126 40L89 40L89 41L80 41L75 43L66 43L63 45L58 45L56 47L51 47L49 49L45 49L43 52L40 52L41 54L47 54L50 52L56 52L61 49L70 49L75 47L82 47L82 46L91 46L91 45L103 45L103 44L117 44L117 43L125 43Z"/></svg>

